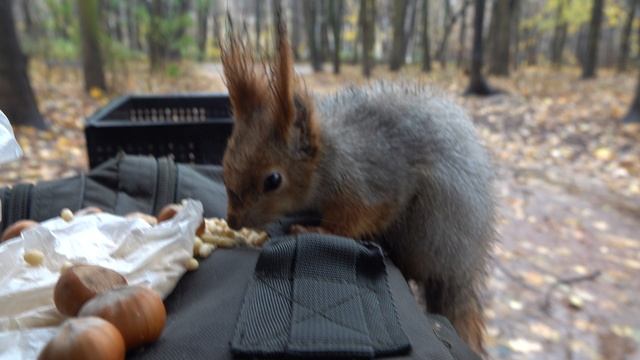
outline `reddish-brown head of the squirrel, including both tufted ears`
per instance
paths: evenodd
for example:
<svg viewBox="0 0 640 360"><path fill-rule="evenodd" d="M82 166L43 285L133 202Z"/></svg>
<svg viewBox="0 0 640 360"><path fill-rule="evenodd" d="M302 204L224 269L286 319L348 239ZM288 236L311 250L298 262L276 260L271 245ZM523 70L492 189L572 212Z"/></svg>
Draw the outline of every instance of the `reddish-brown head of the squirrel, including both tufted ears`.
<svg viewBox="0 0 640 360"><path fill-rule="evenodd" d="M313 102L294 75L286 27L277 15L277 51L266 73L256 71L236 34L222 47L235 121L223 159L227 220L234 228L260 227L301 210L318 162ZM275 189L269 186L274 173L280 175Z"/></svg>

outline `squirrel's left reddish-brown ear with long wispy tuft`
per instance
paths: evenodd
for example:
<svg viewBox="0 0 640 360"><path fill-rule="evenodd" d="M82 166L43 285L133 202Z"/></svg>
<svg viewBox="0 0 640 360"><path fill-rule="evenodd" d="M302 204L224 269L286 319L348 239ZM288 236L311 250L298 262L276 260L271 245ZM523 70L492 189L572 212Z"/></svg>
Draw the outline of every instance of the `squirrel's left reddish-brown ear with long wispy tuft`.
<svg viewBox="0 0 640 360"><path fill-rule="evenodd" d="M234 31L229 13L227 18L228 32L220 41L224 81L236 121L245 121L256 110L268 106L269 86L264 75L256 72L253 53Z"/></svg>

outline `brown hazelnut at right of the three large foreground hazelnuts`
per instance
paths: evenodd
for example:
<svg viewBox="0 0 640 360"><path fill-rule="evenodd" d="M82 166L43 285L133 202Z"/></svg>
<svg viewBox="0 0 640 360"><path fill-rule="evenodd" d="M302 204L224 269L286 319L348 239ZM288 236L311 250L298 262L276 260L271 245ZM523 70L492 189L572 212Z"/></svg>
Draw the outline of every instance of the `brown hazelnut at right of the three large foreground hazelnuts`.
<svg viewBox="0 0 640 360"><path fill-rule="evenodd" d="M98 316L112 323L124 338L127 349L157 340L167 312L162 298L143 286L113 289L89 300L79 316Z"/></svg>

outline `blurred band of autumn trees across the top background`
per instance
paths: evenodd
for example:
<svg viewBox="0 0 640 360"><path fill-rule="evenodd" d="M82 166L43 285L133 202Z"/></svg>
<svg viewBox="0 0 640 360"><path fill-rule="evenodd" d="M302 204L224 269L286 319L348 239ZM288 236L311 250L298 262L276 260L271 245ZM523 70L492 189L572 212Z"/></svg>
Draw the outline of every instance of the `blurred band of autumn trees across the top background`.
<svg viewBox="0 0 640 360"><path fill-rule="evenodd" d="M366 76L382 63L392 71L449 67L467 73L471 83L486 84L479 75L509 76L518 66L581 67L582 77L590 78L598 68L636 71L640 60L640 0L277 2L296 60L313 71L331 62L338 74L345 60L360 64ZM181 62L218 61L227 10L240 19L258 56L269 57L274 6L268 0L3 1L3 26L10 27L13 17L18 47L3 44L12 50L0 53L0 64L26 73L28 62L17 48L49 69L84 67L87 90L117 88L132 64L177 76ZM13 87L27 89L16 81ZM23 103L31 101L23 96Z"/></svg>

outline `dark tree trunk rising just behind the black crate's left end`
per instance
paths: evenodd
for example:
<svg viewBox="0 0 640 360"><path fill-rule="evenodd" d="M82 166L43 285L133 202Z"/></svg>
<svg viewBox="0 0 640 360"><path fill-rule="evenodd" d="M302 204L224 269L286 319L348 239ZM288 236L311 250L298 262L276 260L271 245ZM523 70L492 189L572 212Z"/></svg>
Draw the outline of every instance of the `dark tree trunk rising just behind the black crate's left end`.
<svg viewBox="0 0 640 360"><path fill-rule="evenodd" d="M107 89L104 79L102 50L99 42L98 0L77 0L80 15L80 37L82 41L82 67L84 88Z"/></svg>

